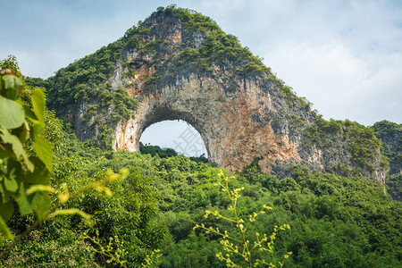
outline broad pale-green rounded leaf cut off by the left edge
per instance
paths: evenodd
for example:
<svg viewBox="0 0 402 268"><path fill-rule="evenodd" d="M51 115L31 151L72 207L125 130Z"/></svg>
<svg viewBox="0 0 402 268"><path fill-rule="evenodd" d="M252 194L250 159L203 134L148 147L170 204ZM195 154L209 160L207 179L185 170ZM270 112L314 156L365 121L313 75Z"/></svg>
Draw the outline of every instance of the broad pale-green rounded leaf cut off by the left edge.
<svg viewBox="0 0 402 268"><path fill-rule="evenodd" d="M24 110L22 106L11 99L0 96L0 127L15 129L24 122Z"/></svg>

